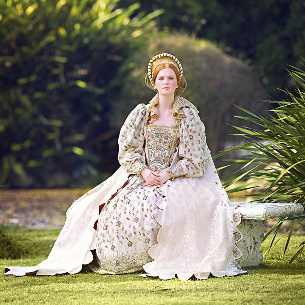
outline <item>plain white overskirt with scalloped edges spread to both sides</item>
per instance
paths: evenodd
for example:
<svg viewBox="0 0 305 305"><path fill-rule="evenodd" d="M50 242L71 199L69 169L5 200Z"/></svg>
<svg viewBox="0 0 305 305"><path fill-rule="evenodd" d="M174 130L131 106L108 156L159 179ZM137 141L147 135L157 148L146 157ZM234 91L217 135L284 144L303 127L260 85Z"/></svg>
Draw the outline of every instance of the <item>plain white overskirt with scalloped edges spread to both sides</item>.
<svg viewBox="0 0 305 305"><path fill-rule="evenodd" d="M74 274L93 261L96 225L104 204L125 187L129 177L121 166L111 177L73 202L48 258L37 266L8 267L5 275ZM143 179L139 177L139 179ZM237 225L240 214L225 192L209 155L203 176L178 177L157 187L162 195L154 215L161 226L148 253L153 259L143 266L143 277L160 279L192 276L206 279L242 273L236 263L242 253L236 243L243 236Z"/></svg>

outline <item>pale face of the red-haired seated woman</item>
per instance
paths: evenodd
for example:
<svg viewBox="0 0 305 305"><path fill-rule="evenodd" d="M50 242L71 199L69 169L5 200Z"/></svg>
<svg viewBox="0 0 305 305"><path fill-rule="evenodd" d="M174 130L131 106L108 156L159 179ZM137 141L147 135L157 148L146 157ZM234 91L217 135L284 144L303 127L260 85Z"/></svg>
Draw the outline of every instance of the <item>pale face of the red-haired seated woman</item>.
<svg viewBox="0 0 305 305"><path fill-rule="evenodd" d="M170 68L159 71L154 82L159 94L173 95L177 87L177 78L175 72Z"/></svg>

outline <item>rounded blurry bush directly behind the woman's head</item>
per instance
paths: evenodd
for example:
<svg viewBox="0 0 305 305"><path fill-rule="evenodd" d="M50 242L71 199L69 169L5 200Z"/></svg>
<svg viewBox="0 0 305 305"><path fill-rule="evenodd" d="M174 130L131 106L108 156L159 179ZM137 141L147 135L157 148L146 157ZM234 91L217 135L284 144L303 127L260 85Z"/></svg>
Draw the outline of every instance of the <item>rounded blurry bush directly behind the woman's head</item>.
<svg viewBox="0 0 305 305"><path fill-rule="evenodd" d="M212 154L223 150L224 146L232 147L229 134L234 129L224 125L237 121L232 116L238 110L232 104L251 105L253 111L259 111L262 105L257 101L265 98L266 93L253 72L240 60L225 55L209 41L182 33L150 40L143 50L145 56L134 58L131 63L134 68L116 98L116 105L112 105L112 116L118 118L112 121L112 126L119 128L133 107L147 104L155 94L147 88L144 79L149 60L163 52L174 54L182 63L187 81L182 96L197 106Z"/></svg>

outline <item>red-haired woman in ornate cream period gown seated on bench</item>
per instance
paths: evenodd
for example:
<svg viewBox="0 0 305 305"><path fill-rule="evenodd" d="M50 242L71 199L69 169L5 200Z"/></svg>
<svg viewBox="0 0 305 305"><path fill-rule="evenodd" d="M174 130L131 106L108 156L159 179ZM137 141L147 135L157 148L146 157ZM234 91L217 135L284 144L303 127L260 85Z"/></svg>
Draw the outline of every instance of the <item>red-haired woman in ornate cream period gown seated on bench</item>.
<svg viewBox="0 0 305 305"><path fill-rule="evenodd" d="M119 137L121 167L76 200L48 258L9 275L145 270L160 279L206 279L245 273L236 263L240 214L231 206L178 59L152 57L146 84L157 91L139 104Z"/></svg>

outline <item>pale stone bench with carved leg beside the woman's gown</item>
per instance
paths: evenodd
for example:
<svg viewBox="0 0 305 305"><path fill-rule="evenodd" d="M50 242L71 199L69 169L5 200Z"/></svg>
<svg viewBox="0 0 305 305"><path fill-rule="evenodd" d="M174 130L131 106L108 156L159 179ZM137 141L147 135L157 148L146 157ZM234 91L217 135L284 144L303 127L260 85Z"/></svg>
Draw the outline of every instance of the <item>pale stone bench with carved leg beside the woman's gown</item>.
<svg viewBox="0 0 305 305"><path fill-rule="evenodd" d="M232 202L232 204L237 207L240 202ZM241 267L257 266L263 261L260 247L264 238L266 219L304 215L303 206L297 203L243 202L236 211L241 215L238 230L244 236L236 244L243 253L243 256L236 260Z"/></svg>

